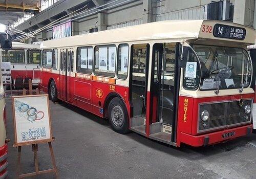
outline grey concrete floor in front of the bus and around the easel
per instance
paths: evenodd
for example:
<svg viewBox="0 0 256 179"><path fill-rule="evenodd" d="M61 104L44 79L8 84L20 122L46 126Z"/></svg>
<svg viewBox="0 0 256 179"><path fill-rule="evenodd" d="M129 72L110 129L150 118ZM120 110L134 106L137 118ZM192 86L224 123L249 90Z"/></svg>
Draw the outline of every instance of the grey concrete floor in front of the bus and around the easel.
<svg viewBox="0 0 256 179"><path fill-rule="evenodd" d="M8 137L13 141L11 98L6 103ZM134 132L120 135L108 121L62 102L50 102L50 109L60 178L256 178L255 134L211 147L176 148ZM38 149L39 168L48 169L48 145ZM8 160L9 178L15 178L17 149L12 142ZM32 147L22 147L22 172L32 171Z"/></svg>

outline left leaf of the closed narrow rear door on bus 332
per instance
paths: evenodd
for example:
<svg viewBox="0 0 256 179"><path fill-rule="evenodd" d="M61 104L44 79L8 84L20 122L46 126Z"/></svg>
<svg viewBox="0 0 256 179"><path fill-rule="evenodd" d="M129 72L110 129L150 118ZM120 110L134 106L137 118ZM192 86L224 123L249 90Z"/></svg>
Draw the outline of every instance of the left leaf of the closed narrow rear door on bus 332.
<svg viewBox="0 0 256 179"><path fill-rule="evenodd" d="M66 101L67 97L67 49L60 50L59 88L60 99Z"/></svg>

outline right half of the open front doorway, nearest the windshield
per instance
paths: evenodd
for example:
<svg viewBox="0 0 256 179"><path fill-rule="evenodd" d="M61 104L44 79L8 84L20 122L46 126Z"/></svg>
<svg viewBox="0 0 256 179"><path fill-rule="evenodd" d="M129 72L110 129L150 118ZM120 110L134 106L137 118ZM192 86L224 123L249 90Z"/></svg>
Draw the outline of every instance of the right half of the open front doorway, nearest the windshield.
<svg viewBox="0 0 256 179"><path fill-rule="evenodd" d="M178 43L155 43L152 53L151 84L148 84L149 137L165 143L175 142L178 49Z"/></svg>

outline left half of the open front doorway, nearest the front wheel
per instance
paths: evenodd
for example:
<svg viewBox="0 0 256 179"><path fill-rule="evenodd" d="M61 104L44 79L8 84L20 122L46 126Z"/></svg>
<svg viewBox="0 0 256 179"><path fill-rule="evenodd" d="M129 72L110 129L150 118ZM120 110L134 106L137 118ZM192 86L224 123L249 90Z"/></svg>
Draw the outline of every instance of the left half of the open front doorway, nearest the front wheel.
<svg viewBox="0 0 256 179"><path fill-rule="evenodd" d="M150 45L133 44L131 47L129 97L131 104L131 130L146 135L146 99Z"/></svg>

